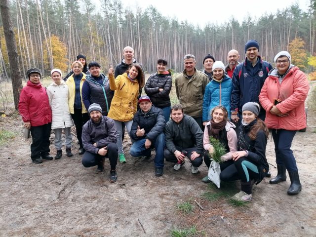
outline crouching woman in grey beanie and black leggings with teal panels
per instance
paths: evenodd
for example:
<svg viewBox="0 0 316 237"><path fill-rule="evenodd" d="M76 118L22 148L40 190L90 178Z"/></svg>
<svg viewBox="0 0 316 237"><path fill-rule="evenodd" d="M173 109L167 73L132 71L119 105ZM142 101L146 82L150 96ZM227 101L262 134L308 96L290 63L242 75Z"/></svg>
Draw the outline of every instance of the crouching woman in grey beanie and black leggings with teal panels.
<svg viewBox="0 0 316 237"><path fill-rule="evenodd" d="M237 130L238 151L233 154L234 164L223 171L237 172L240 177L241 191L232 197L233 200L250 201L251 180L254 179L258 184L269 171L266 159L269 131L266 124L257 118L259 111L260 106L255 102L242 106L242 124Z"/></svg>

